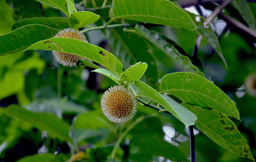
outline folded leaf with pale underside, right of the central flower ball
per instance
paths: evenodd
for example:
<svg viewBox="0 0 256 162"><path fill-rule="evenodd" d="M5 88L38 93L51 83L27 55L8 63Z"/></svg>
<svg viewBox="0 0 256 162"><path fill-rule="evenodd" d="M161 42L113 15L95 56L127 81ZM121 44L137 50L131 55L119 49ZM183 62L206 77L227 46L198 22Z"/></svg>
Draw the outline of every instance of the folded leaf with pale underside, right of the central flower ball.
<svg viewBox="0 0 256 162"><path fill-rule="evenodd" d="M159 94L152 87L141 81L135 81L135 85L138 89L138 96L146 97L157 102L170 113L172 113L172 115L179 119L183 124L185 124L186 127L194 125L195 120L197 119L196 115L191 113L181 104L166 95Z"/></svg>

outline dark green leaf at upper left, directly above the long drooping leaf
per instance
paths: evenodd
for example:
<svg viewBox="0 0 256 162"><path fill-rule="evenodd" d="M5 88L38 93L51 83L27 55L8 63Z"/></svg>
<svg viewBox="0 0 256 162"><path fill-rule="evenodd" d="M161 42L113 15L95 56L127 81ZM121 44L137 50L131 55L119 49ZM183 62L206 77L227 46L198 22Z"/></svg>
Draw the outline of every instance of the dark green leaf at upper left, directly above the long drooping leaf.
<svg viewBox="0 0 256 162"><path fill-rule="evenodd" d="M51 28L62 30L69 27L69 19L65 17L32 17L16 21L11 26L11 29L15 30L17 28L30 24L41 24L49 26Z"/></svg>

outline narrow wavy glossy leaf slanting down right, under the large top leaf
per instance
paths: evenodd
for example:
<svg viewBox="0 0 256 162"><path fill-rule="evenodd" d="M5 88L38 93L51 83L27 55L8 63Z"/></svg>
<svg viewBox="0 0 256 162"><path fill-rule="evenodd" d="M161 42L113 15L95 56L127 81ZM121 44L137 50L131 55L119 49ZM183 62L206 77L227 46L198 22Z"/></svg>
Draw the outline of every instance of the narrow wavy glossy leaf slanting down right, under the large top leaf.
<svg viewBox="0 0 256 162"><path fill-rule="evenodd" d="M198 67L194 66L187 56L182 55L173 45L171 45L165 39L163 39L163 36L160 33L148 30L147 28L141 25L136 25L135 31L136 33L146 38L149 42L153 43L155 47L162 51L162 53L159 52L158 54L168 55L177 63L179 63L183 68L185 68L185 70L187 70L188 72L193 72L204 77L204 74L200 72Z"/></svg>

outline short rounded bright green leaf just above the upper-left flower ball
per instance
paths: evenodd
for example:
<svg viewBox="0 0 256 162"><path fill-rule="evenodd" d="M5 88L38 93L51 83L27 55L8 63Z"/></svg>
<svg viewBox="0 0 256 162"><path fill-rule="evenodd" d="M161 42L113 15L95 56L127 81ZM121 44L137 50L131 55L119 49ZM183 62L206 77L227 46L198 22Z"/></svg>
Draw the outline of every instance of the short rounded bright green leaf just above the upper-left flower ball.
<svg viewBox="0 0 256 162"><path fill-rule="evenodd" d="M89 11L78 11L72 13L69 17L69 25L71 28L82 28L90 25L99 19L99 15Z"/></svg>

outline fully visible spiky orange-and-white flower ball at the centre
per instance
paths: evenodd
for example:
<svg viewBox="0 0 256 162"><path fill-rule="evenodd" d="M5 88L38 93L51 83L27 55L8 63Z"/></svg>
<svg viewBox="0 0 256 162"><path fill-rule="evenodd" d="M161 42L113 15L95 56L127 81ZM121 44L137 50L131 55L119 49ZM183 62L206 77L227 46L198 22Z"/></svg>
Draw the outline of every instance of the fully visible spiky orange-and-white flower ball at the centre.
<svg viewBox="0 0 256 162"><path fill-rule="evenodd" d="M137 112L137 100L123 85L110 87L101 97L101 110L114 123L127 122Z"/></svg>

